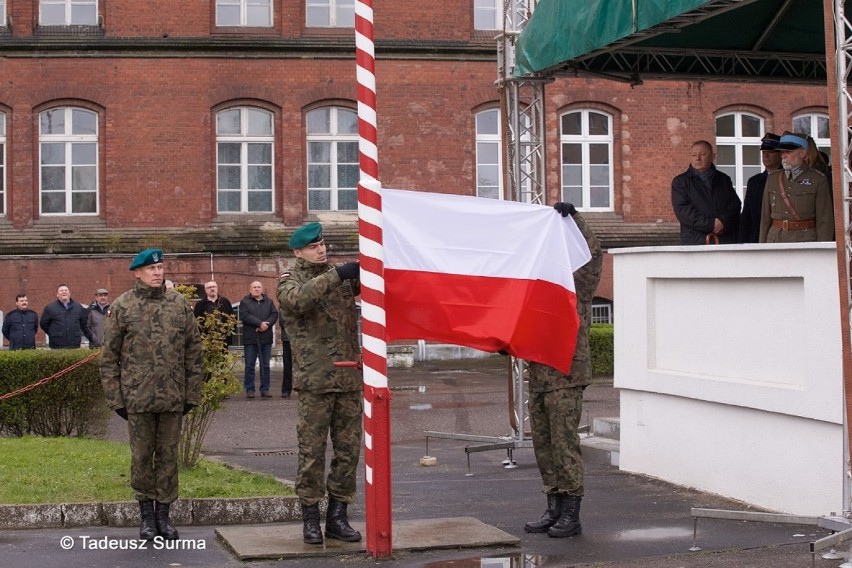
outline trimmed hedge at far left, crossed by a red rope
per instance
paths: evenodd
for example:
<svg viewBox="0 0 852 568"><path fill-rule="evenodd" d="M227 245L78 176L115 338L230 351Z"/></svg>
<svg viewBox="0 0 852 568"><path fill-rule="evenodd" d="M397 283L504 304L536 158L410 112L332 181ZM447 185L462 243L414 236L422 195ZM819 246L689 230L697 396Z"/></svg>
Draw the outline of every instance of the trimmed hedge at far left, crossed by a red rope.
<svg viewBox="0 0 852 568"><path fill-rule="evenodd" d="M0 351L0 394L33 385L90 355L89 349ZM0 434L90 436L104 432L109 409L104 403L99 363L97 354L61 377L0 401Z"/></svg>

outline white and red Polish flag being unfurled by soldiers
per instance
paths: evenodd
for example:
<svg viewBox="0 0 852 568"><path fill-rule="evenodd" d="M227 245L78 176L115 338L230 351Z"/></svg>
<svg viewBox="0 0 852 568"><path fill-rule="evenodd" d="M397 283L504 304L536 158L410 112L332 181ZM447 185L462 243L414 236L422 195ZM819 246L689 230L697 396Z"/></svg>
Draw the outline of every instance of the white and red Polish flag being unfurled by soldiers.
<svg viewBox="0 0 852 568"><path fill-rule="evenodd" d="M580 321L573 272L591 259L552 207L382 190L386 338L507 351L564 373Z"/></svg>

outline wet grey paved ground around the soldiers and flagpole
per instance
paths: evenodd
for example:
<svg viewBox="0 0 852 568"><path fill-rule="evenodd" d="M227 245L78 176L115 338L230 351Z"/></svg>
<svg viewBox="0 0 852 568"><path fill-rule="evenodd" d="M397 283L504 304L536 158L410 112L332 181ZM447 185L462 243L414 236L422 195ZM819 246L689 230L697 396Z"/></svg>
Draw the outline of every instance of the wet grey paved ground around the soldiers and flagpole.
<svg viewBox="0 0 852 568"><path fill-rule="evenodd" d="M274 371L273 376L275 389L280 384L275 380L280 380L280 372ZM499 358L473 364L391 369L390 382L395 521L473 517L517 537L520 545L395 551L391 559L378 563L381 566L807 567L812 565L809 543L828 534L809 525L701 520L697 544L702 550L690 552L691 507L743 510L747 507L595 464L586 467L583 535L552 539L526 534L524 522L537 519L544 505L531 449L515 451L514 469L503 467L505 451L470 454L472 475L468 475L465 442L433 439L429 442L429 454L437 459L437 464L420 465L420 458L426 454L424 431L509 433L507 379ZM281 398L233 397L214 420L205 443L206 453L228 463L292 479L296 468L295 403ZM584 414L584 422L595 417L617 416L618 393L606 384L589 387ZM110 425L110 437L126 439L123 428L116 418ZM363 471L359 472L359 478L362 475ZM363 502L350 509L350 516L354 521L363 521ZM293 530L298 526L285 528ZM243 562L219 540L216 527L181 528L183 540L179 542L184 543L183 550L97 549L101 544L120 546L136 534L135 529L109 527L0 531L0 566L313 568L377 564L364 553ZM72 539L72 550L62 550L63 536ZM841 562L816 557L813 566L835 567Z"/></svg>

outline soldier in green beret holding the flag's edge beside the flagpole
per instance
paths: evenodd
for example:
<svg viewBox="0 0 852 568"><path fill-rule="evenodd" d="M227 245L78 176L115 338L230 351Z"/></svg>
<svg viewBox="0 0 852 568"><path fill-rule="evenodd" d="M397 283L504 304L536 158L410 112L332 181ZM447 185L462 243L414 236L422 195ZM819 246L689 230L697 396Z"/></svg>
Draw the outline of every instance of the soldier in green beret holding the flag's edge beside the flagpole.
<svg viewBox="0 0 852 568"><path fill-rule="evenodd" d="M359 265L328 263L322 226L308 223L290 238L296 265L278 283L278 303L293 352L293 388L298 391L299 470L296 494L302 505L304 541L322 544L319 502L328 493L325 536L361 540L346 508L355 498L361 452L363 378L338 361L360 359L355 296ZM325 479L326 440L334 458Z"/></svg>

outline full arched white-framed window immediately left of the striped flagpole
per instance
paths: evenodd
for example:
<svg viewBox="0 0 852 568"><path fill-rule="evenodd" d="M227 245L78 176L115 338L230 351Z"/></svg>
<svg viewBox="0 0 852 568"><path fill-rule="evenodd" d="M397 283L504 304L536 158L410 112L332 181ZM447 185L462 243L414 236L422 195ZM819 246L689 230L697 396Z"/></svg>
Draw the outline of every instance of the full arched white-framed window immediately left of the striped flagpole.
<svg viewBox="0 0 852 568"><path fill-rule="evenodd" d="M307 115L308 210L358 209L358 114L324 107Z"/></svg>

